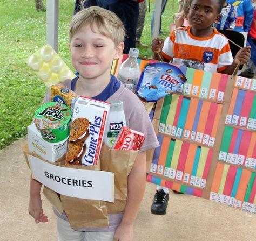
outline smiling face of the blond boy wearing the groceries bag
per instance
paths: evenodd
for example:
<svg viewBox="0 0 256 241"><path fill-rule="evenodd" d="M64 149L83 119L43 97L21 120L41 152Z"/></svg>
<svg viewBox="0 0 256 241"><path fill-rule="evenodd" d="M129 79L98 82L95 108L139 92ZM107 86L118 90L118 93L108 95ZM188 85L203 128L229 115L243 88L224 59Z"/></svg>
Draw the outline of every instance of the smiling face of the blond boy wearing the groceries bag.
<svg viewBox="0 0 256 241"><path fill-rule="evenodd" d="M110 38L95 30L85 26L73 36L69 45L72 64L84 79L109 79L112 61L122 54L124 43L114 46Z"/></svg>

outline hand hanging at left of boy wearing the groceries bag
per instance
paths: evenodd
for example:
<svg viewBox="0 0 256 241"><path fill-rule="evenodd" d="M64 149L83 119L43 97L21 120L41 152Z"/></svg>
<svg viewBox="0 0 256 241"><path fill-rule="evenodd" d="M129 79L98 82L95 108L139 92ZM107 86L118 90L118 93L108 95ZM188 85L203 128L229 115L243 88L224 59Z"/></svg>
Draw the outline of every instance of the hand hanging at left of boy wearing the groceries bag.
<svg viewBox="0 0 256 241"><path fill-rule="evenodd" d="M44 214L42 209L41 195L30 196L29 200L29 214L35 218L35 222L48 222L48 217Z"/></svg>

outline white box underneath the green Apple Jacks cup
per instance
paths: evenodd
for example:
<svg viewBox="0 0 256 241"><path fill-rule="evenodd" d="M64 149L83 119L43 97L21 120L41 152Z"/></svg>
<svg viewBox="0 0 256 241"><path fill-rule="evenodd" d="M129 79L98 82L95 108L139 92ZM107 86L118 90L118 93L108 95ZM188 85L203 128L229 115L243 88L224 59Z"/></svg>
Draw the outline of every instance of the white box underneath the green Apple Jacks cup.
<svg viewBox="0 0 256 241"><path fill-rule="evenodd" d="M63 157L68 148L68 140L62 144L48 143L43 140L35 123L28 126L28 143L30 152L36 153L42 159L50 162L56 162L60 157Z"/></svg>

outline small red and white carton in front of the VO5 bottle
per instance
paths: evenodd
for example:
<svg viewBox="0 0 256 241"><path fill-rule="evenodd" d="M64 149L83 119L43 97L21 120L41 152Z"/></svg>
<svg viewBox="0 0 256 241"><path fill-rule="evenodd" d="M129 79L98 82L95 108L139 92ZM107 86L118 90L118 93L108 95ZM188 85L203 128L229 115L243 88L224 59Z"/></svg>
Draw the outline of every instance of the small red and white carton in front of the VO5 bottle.
<svg viewBox="0 0 256 241"><path fill-rule="evenodd" d="M142 132L123 126L114 141L113 149L137 151L142 147L144 140L145 135Z"/></svg>

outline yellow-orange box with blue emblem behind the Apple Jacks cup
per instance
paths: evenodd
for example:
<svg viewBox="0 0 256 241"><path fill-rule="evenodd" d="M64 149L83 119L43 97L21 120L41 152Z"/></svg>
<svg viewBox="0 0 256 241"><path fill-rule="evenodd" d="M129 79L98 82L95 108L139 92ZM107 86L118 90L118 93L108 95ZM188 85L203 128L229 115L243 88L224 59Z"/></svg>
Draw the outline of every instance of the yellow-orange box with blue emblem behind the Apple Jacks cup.
<svg viewBox="0 0 256 241"><path fill-rule="evenodd" d="M79 95L65 87L63 84L59 83L51 86L51 102L60 102L65 104L72 112L78 97Z"/></svg>

